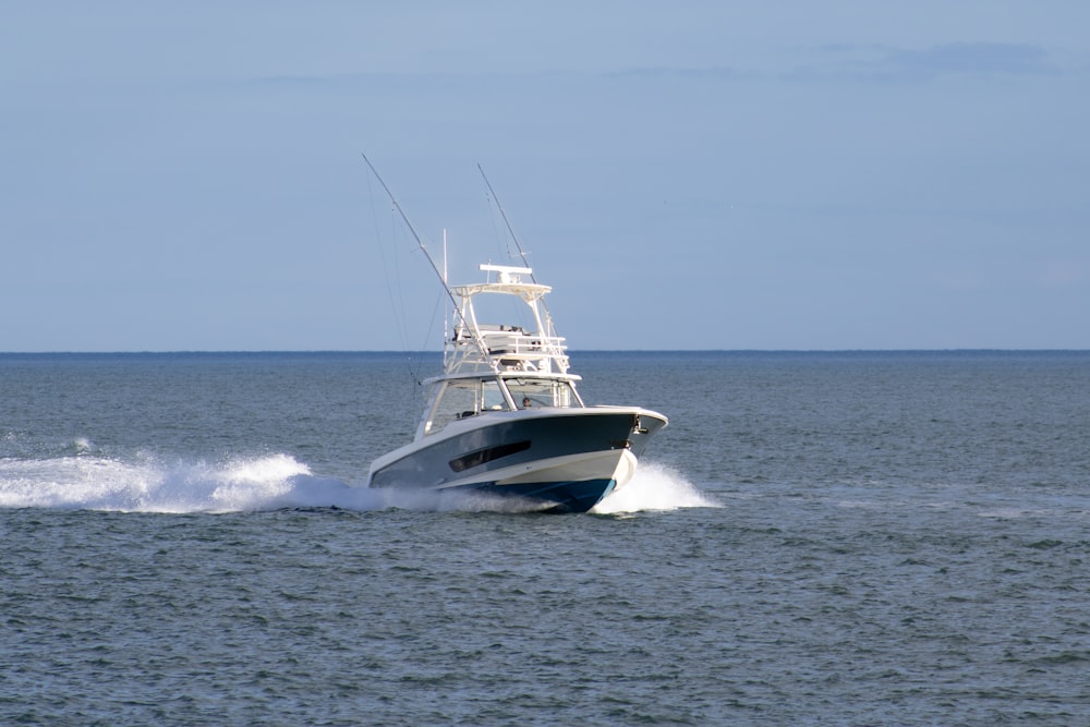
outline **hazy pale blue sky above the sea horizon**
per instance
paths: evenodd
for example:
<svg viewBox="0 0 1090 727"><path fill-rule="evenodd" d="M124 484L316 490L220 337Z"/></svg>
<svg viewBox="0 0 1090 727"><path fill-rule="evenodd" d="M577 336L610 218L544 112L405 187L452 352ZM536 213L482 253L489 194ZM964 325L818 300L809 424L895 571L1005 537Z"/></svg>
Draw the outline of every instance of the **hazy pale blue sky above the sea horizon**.
<svg viewBox="0 0 1090 727"><path fill-rule="evenodd" d="M1090 348L1090 3L0 0L0 350ZM395 312L397 315L395 315ZM431 337L428 336L431 331Z"/></svg>

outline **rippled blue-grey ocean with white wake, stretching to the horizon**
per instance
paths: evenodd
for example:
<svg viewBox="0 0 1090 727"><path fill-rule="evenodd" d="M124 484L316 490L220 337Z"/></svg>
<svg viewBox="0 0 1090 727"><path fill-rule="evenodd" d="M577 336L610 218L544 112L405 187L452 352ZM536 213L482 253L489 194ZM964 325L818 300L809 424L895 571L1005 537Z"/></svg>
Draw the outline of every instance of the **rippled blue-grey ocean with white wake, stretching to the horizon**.
<svg viewBox="0 0 1090 727"><path fill-rule="evenodd" d="M574 516L362 487L395 353L0 354L0 724L1090 724L1090 353L579 353Z"/></svg>

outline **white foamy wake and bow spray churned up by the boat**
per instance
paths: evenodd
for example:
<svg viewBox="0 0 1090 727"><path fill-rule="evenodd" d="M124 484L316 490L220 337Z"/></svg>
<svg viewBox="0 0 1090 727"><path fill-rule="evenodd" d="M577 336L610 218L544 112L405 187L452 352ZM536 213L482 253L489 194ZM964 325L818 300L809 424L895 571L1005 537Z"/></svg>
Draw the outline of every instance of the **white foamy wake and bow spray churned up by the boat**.
<svg viewBox="0 0 1090 727"><path fill-rule="evenodd" d="M370 511L532 512L537 502L481 494L371 489L315 475L289 455L218 462L133 462L78 455L0 459L0 507L120 512L246 512L282 508ZM717 505L681 475L641 463L620 492L593 511L602 514Z"/></svg>

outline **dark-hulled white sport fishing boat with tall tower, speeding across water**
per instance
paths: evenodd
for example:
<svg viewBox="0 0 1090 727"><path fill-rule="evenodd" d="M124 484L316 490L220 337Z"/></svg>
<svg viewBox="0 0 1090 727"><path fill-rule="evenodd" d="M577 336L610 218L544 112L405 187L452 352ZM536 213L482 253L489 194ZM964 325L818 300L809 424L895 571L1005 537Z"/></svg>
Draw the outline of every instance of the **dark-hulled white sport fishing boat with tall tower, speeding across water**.
<svg viewBox="0 0 1090 727"><path fill-rule="evenodd" d="M584 403L545 302L552 288L525 264L492 263L480 265L483 281L449 286L386 191L452 303L452 331L444 336L443 373L423 381L426 404L413 440L376 459L367 484L497 497L546 512L586 512L623 487L666 416ZM521 315L485 317L504 302Z"/></svg>

